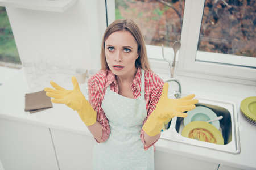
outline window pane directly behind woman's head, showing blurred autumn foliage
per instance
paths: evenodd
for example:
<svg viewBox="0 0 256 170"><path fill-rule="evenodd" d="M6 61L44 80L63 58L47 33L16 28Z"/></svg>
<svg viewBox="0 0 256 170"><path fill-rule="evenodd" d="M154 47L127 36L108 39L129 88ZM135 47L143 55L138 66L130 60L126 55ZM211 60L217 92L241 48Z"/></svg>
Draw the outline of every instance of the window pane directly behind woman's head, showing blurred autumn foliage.
<svg viewBox="0 0 256 170"><path fill-rule="evenodd" d="M146 45L172 47L180 40L185 0L115 0L115 19L133 19Z"/></svg>

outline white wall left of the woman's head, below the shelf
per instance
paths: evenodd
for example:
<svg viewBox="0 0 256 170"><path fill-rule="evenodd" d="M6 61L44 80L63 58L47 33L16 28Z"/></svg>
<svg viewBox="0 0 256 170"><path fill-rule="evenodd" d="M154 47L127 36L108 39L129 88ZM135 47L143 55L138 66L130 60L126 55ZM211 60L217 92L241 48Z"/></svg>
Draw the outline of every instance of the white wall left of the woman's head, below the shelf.
<svg viewBox="0 0 256 170"><path fill-rule="evenodd" d="M6 10L23 63L100 68L105 1L77 0L63 13L12 7Z"/></svg>

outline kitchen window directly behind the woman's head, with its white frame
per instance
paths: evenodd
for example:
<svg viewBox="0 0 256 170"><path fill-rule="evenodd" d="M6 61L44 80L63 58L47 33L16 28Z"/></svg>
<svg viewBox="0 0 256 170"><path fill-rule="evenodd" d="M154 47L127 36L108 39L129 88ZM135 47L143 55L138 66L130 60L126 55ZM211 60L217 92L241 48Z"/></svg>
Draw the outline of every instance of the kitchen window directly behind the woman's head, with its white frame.
<svg viewBox="0 0 256 170"><path fill-rule="evenodd" d="M181 37L185 0L111 0L106 1L106 4L108 24L115 19L125 18L133 19L138 24L146 41L148 58L154 65L160 67L163 64L162 52L166 59L172 60L172 45L180 41Z"/></svg>

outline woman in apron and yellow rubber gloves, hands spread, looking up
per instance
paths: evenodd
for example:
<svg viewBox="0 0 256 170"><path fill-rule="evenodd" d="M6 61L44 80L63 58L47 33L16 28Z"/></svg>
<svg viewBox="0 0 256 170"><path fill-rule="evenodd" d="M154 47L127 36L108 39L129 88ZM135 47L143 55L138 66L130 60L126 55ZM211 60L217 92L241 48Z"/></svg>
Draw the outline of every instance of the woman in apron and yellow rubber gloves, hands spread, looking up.
<svg viewBox="0 0 256 170"><path fill-rule="evenodd" d="M132 20L116 20L106 29L101 71L88 80L89 102L77 80L73 90L51 82L53 103L79 113L97 143L94 169L154 169L154 149L163 124L195 108L195 95L168 99L168 84L150 70L142 33Z"/></svg>

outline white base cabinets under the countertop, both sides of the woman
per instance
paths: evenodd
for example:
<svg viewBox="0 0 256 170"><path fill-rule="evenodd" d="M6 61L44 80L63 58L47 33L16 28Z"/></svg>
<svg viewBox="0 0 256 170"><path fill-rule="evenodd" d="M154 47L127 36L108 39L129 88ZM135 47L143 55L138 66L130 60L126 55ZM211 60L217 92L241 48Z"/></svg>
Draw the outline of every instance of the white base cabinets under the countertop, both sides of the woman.
<svg viewBox="0 0 256 170"><path fill-rule="evenodd" d="M86 134L0 118L0 170L92 169L95 143ZM157 150L155 169L242 170Z"/></svg>

